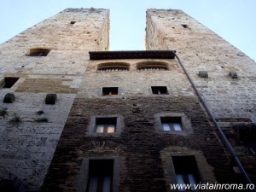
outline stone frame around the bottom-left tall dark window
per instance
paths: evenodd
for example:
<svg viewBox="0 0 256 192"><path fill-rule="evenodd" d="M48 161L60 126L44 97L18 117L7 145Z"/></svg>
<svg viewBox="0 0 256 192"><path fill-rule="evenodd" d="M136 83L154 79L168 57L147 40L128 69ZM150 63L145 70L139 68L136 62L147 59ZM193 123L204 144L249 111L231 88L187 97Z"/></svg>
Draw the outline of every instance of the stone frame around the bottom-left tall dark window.
<svg viewBox="0 0 256 192"><path fill-rule="evenodd" d="M89 162L90 160L113 160L113 190L112 192L119 192L120 183L120 160L119 157L87 157L82 160L79 177L77 180L77 191L84 192L89 178Z"/></svg>

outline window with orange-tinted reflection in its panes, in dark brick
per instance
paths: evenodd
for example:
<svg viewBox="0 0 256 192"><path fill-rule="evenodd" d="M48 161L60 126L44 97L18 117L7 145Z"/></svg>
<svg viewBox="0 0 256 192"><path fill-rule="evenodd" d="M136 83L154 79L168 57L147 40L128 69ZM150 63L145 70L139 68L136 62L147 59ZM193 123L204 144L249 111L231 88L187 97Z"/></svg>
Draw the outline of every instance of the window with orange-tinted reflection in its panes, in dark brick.
<svg viewBox="0 0 256 192"><path fill-rule="evenodd" d="M116 132L117 118L96 118L96 133Z"/></svg>

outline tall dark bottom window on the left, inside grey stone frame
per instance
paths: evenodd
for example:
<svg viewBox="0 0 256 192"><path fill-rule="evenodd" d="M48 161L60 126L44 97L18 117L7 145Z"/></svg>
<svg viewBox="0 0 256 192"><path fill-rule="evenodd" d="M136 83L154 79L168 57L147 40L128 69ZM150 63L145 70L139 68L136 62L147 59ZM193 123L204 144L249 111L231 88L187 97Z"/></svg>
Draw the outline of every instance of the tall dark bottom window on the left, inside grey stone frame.
<svg viewBox="0 0 256 192"><path fill-rule="evenodd" d="M90 160L86 192L113 191L113 160Z"/></svg>

